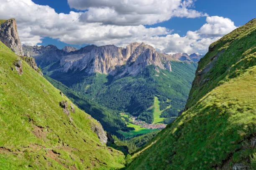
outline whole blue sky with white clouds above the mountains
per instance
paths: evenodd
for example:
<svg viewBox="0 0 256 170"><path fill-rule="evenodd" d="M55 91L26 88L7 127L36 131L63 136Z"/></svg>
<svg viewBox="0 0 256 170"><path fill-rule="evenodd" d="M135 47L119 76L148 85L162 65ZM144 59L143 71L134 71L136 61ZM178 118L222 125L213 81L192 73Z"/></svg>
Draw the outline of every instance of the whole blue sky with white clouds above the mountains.
<svg viewBox="0 0 256 170"><path fill-rule="evenodd" d="M24 45L144 42L159 52L205 54L209 45L256 17L256 0L0 0Z"/></svg>

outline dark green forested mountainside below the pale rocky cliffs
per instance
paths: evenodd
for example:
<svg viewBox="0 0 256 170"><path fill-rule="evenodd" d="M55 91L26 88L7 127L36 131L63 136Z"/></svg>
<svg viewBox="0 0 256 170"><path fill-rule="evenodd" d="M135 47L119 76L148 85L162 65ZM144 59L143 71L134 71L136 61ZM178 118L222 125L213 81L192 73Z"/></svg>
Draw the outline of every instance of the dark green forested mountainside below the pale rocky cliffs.
<svg viewBox="0 0 256 170"><path fill-rule="evenodd" d="M149 65L136 75L115 79L112 75L84 72L47 74L72 90L112 110L129 112L141 120L153 122L146 110L154 104L154 97L161 102L170 100L170 109L163 117L177 117L185 106L197 63L170 61L172 72ZM44 69L43 69L44 71ZM70 81L72 79L72 81ZM168 123L168 122L167 122Z"/></svg>

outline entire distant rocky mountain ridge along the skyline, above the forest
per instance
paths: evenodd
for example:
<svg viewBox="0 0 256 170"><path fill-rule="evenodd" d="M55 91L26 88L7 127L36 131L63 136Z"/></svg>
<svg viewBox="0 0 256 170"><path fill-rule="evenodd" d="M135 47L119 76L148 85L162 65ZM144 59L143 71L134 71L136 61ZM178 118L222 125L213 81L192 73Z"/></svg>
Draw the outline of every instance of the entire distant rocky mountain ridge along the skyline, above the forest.
<svg viewBox="0 0 256 170"><path fill-rule="evenodd" d="M69 50L68 50L69 49ZM177 53L174 55L156 52L154 47L143 42L131 43L123 47L115 45L104 45L97 47L88 45L81 49L74 47L64 47L59 50L54 45L47 46L26 46L23 45L24 52L29 52L30 56L36 59L38 65L44 67L52 62L59 61L59 71L69 70L85 71L88 74L99 72L116 75L136 75L147 65L156 65L162 69L172 70L169 61L198 62L202 55Z"/></svg>

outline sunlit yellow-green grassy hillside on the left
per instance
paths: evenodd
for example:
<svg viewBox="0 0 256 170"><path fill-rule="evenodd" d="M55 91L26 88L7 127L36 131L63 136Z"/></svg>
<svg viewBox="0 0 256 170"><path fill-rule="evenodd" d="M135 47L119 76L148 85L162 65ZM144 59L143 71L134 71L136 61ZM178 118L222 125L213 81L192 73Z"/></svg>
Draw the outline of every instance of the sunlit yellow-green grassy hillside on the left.
<svg viewBox="0 0 256 170"><path fill-rule="evenodd" d="M96 120L75 106L70 121L59 101L71 101L26 62L24 74L12 71L16 55L2 42L0 59L0 169L123 167L123 154L92 133Z"/></svg>

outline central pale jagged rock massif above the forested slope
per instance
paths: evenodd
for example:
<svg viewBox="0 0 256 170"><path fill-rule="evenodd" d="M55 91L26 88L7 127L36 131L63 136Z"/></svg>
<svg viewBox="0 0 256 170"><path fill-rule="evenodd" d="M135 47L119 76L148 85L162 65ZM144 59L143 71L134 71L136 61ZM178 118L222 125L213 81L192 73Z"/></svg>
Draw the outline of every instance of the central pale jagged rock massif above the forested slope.
<svg viewBox="0 0 256 170"><path fill-rule="evenodd" d="M73 52L60 60L60 72L83 70L88 74L100 72L115 75L121 67L121 76L135 75L147 65L156 65L165 69L156 50L144 43L135 42L127 45L126 48L105 45L92 47L92 50L87 53L79 54L79 50L75 53L77 54Z"/></svg>

